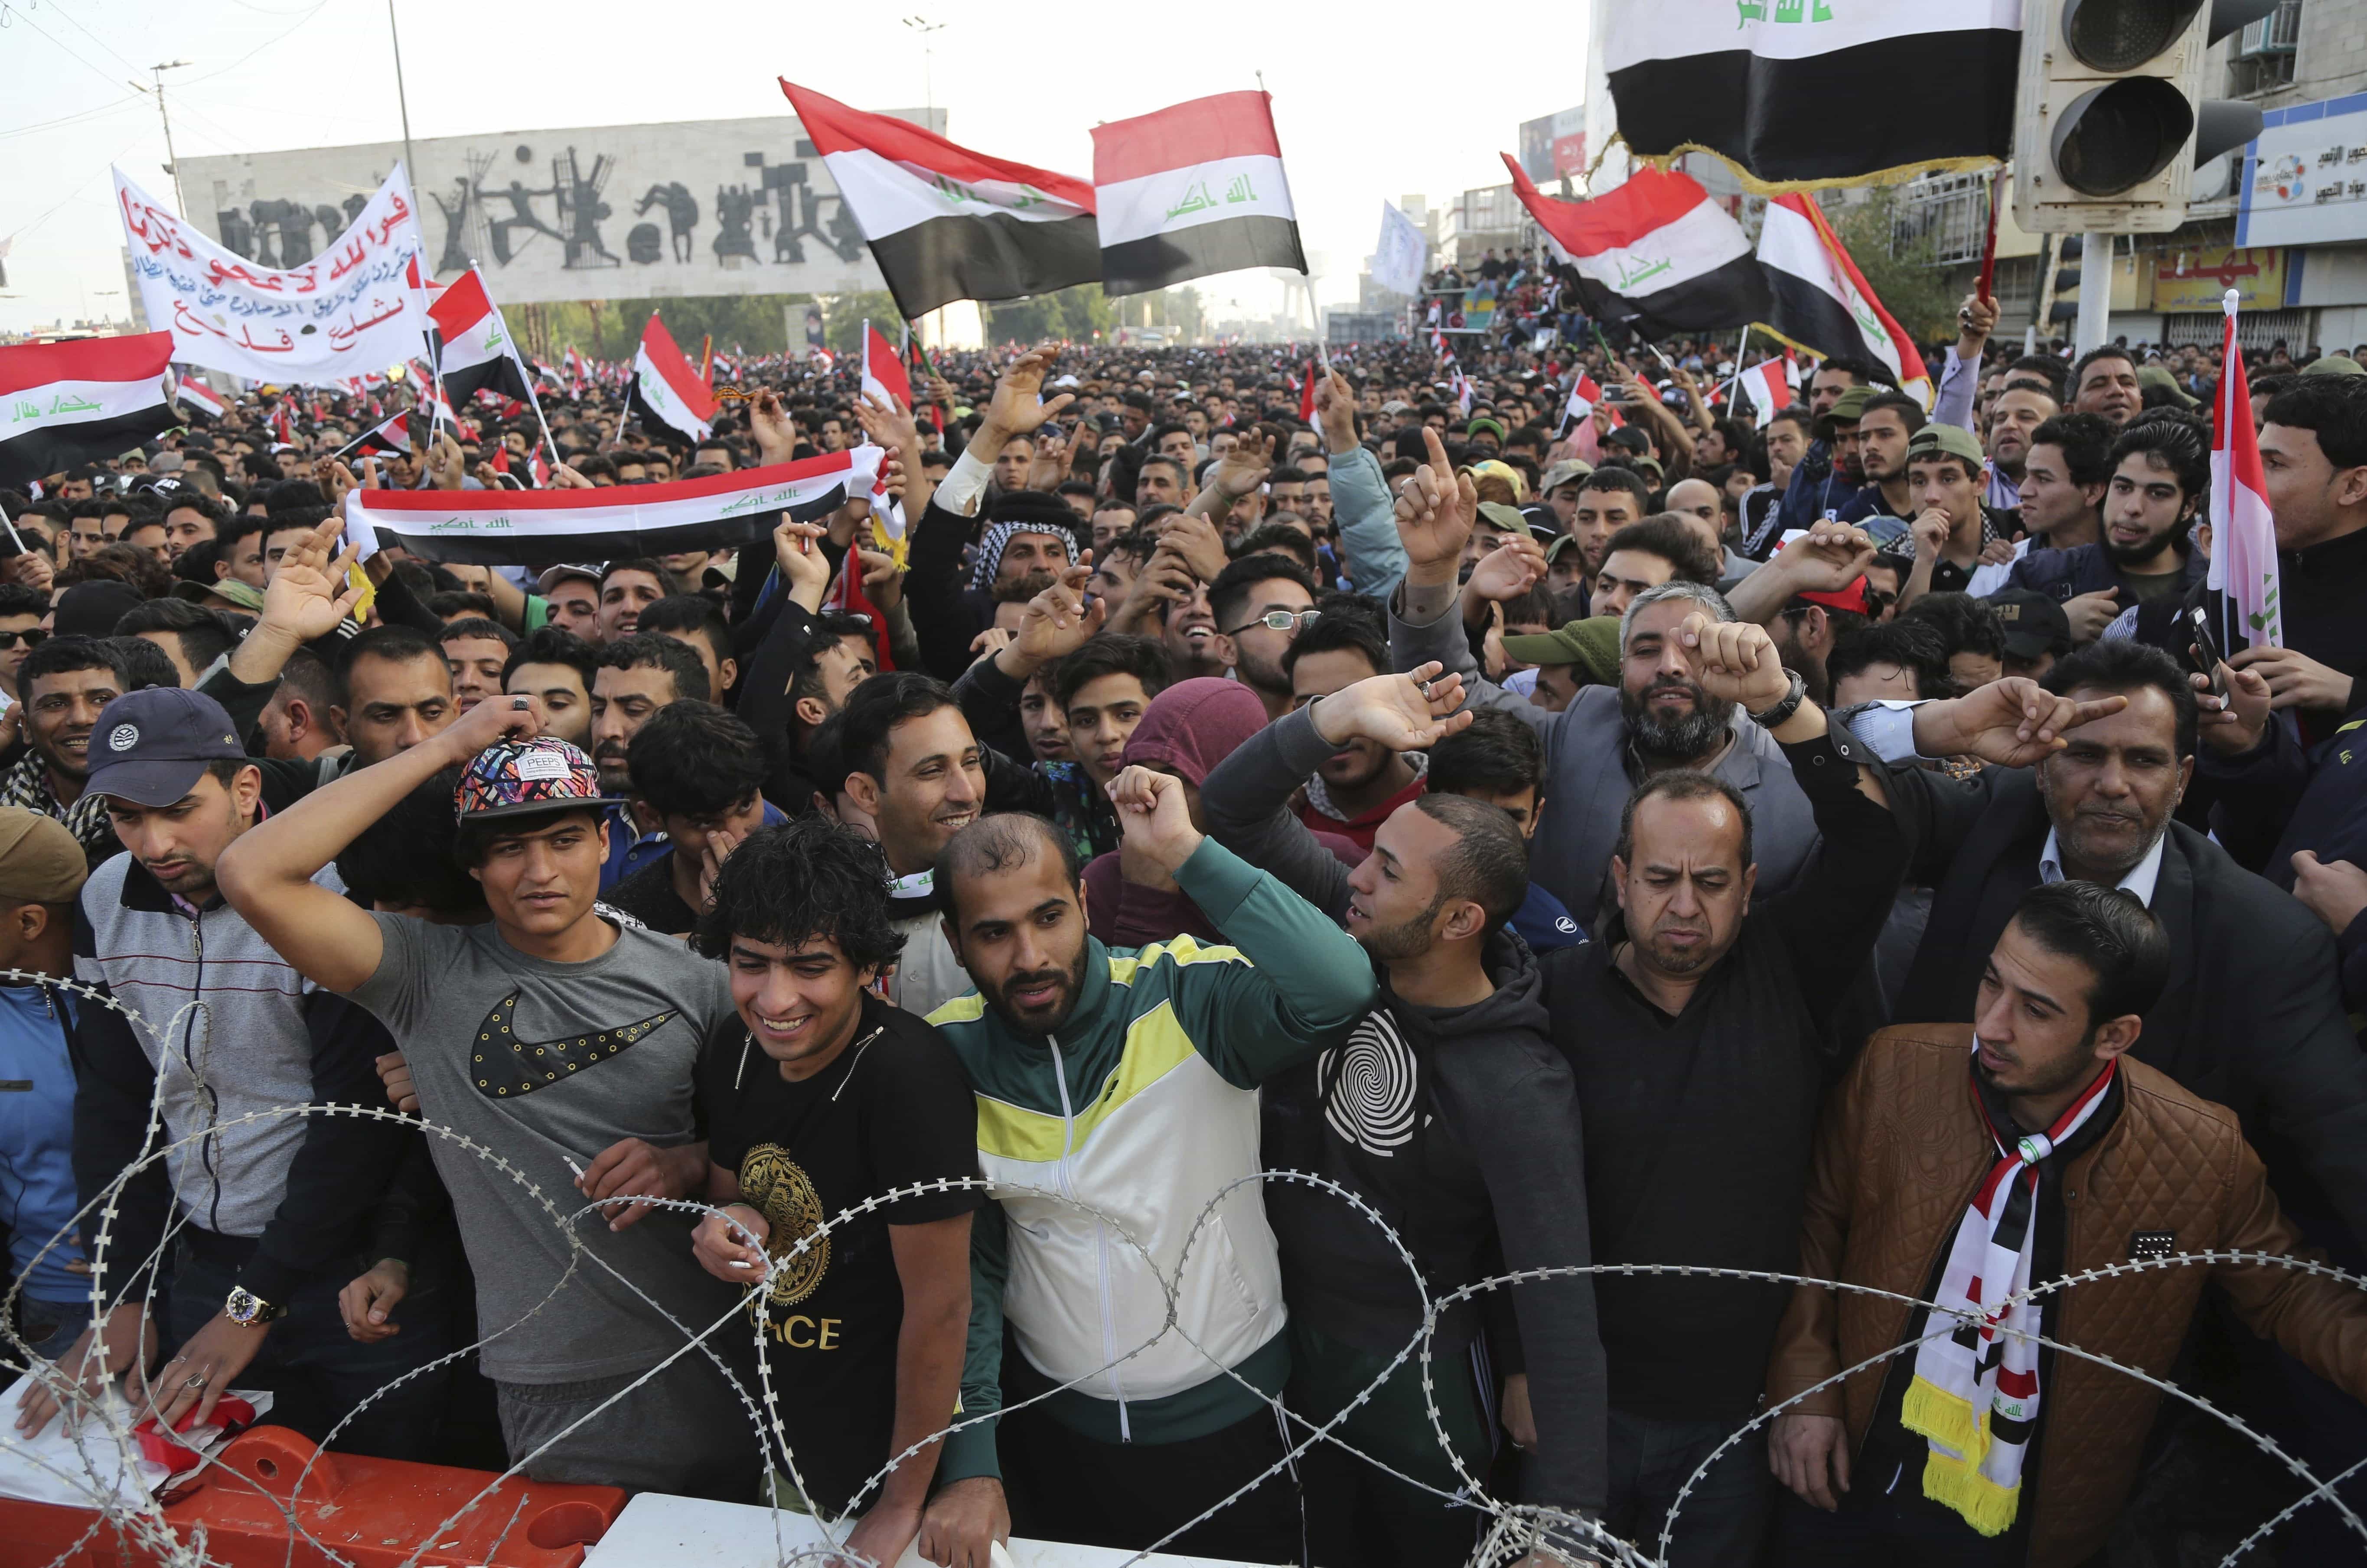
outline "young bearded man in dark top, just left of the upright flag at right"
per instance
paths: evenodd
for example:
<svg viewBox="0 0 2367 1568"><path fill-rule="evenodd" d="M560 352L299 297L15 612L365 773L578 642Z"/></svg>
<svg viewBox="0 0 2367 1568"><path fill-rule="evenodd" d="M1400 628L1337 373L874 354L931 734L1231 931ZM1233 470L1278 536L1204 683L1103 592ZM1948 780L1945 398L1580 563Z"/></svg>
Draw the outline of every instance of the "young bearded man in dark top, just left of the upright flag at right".
<svg viewBox="0 0 2367 1568"><path fill-rule="evenodd" d="M2031 551L2007 579L2062 598L2073 646L2092 643L2133 605L2185 598L2208 568L2189 542L2211 485L2208 426L2154 409L2121 428L2107 461L2104 537Z"/></svg>

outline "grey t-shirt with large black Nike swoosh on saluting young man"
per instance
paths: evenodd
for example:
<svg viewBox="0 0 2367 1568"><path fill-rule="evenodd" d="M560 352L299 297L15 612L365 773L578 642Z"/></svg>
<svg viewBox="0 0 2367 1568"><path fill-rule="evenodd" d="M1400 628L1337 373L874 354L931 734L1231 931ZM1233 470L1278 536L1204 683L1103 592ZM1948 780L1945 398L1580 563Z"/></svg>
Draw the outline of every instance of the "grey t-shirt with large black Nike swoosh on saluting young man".
<svg viewBox="0 0 2367 1568"><path fill-rule="evenodd" d="M660 1149L696 1142L698 1043L731 1015L720 963L646 929L618 929L615 946L589 963L549 963L492 925L372 918L386 958L350 996L400 1043L419 1114L507 1159L561 1216L585 1204L570 1159L589 1166L625 1138ZM660 1209L611 1232L606 1218L585 1213L573 1220L585 1244L575 1253L507 1171L433 1133L428 1149L476 1270L490 1379L575 1384L641 1372L684 1343L651 1301L694 1331L739 1301L691 1261L689 1216ZM559 1287L570 1258L575 1275Z"/></svg>

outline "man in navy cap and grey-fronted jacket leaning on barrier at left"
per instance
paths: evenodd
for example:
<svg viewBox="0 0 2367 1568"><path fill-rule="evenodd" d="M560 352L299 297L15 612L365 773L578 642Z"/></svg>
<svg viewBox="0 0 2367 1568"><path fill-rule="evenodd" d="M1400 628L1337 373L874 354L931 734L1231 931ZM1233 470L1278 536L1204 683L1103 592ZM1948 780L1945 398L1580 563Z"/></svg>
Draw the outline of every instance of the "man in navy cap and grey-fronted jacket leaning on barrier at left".
<svg viewBox="0 0 2367 1568"><path fill-rule="evenodd" d="M372 1062L393 1041L353 1003L305 986L215 885L220 858L267 809L275 764L239 750L220 702L178 686L116 698L97 736L88 795L128 854L83 885L73 967L147 1026L80 1007L73 1171L83 1201L111 1220L88 1282L111 1310L66 1365L85 1384L144 1372L142 1341L161 1331L178 1348L149 1384L166 1426L182 1412L204 1421L237 1384L275 1391L275 1414L315 1440L350 1417L341 1447L424 1459L440 1379L405 1374L443 1355L450 1320L428 1298L405 1320L409 1334L369 1346L348 1339L336 1310L407 1133L286 1114L376 1100ZM270 806L291 804L272 795ZM142 1166L151 1138L173 1152ZM161 1324L128 1279L156 1253L170 1277ZM54 1405L57 1391L28 1379L19 1431L40 1431Z"/></svg>

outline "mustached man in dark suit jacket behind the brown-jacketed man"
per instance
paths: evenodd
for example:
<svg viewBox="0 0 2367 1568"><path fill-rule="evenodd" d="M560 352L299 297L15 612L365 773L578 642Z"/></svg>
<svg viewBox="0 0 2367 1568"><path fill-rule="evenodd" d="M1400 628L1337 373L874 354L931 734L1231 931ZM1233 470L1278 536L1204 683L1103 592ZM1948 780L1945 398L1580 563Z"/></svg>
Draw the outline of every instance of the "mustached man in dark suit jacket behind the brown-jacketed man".
<svg viewBox="0 0 2367 1568"><path fill-rule="evenodd" d="M2026 738L2045 693L2085 714L2066 747ZM2331 1204L2367 1237L2367 1057L2343 1015L2334 939L2173 821L2199 726L2187 676L2159 648L2104 639L2057 662L2045 693L2005 679L1948 702L1884 702L1853 721L1894 762L1995 764L1962 783L1922 769L1891 776L1915 842L1908 880L1934 889L1894 1022L1974 1017L1981 965L2031 887L2121 887L2171 939L2173 981L2145 1012L2145 1060L2244 1121L2287 1209Z"/></svg>

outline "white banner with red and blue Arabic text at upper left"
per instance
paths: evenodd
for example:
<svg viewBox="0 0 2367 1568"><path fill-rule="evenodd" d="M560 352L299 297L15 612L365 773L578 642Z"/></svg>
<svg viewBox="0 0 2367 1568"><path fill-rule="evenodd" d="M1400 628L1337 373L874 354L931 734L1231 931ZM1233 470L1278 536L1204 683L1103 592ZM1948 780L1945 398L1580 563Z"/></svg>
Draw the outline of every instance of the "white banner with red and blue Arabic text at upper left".
<svg viewBox="0 0 2367 1568"><path fill-rule="evenodd" d="M225 251L116 170L149 324L173 357L277 385L336 385L426 352L426 241L402 166L320 255L275 272Z"/></svg>

